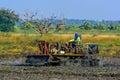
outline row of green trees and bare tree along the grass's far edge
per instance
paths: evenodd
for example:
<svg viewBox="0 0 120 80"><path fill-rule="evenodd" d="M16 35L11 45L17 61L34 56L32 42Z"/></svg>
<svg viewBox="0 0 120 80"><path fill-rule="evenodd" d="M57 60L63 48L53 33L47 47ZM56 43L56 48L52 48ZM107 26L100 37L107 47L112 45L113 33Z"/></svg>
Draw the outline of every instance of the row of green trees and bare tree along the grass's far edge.
<svg viewBox="0 0 120 80"><path fill-rule="evenodd" d="M50 18L35 19L36 13L25 13L25 18L22 19L18 14L10 9L0 9L0 31L1 32L15 32L16 30L33 29L40 34L49 33L51 30L58 32L63 28L65 30L81 29L81 30L117 30L120 31L120 23L105 23L97 22L92 24L89 21L84 21L80 25L66 25L65 20L57 20L56 16Z"/></svg>

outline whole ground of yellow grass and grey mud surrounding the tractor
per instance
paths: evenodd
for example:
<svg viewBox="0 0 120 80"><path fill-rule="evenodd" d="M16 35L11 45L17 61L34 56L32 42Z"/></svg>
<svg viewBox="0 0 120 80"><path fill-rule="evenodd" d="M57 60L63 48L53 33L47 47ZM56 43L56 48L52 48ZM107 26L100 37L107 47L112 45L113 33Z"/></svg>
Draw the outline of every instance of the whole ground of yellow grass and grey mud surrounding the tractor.
<svg viewBox="0 0 120 80"><path fill-rule="evenodd" d="M9 66L37 53L36 40L67 42L74 34L0 33L0 80L120 80L120 36L83 34L83 43L98 43L98 58L105 66ZM11 56L14 55L14 56ZM109 57L106 57L109 56ZM113 57L114 56L114 57ZM119 57L119 58L115 58Z"/></svg>

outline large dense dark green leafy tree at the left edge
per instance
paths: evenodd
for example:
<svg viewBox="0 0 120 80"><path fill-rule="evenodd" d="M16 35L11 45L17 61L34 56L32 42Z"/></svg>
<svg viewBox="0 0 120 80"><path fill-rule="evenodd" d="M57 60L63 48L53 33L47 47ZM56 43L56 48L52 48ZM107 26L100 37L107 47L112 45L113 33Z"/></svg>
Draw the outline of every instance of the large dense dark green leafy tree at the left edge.
<svg viewBox="0 0 120 80"><path fill-rule="evenodd" d="M18 15L9 9L0 9L0 31L13 32Z"/></svg>

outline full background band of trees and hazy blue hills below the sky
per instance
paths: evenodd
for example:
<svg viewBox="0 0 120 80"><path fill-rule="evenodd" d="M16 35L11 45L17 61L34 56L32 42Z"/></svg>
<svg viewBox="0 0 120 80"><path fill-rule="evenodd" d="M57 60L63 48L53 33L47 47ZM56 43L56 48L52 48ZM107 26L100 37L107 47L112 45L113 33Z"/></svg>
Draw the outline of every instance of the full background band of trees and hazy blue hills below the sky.
<svg viewBox="0 0 120 80"><path fill-rule="evenodd" d="M101 33L120 32L120 21L94 21L78 19L56 19L55 16L45 19L35 19L35 14L26 13L22 19L14 11L0 9L0 31L17 33ZM63 25L61 27L61 25Z"/></svg>

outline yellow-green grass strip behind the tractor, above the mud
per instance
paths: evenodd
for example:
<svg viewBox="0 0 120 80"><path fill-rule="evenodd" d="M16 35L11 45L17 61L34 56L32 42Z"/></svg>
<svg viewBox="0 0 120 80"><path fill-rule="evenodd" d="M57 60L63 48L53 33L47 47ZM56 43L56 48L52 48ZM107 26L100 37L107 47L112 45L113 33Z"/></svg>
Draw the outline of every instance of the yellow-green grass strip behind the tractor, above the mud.
<svg viewBox="0 0 120 80"><path fill-rule="evenodd" d="M15 34L0 33L0 55L2 54L33 54L37 53L36 40L51 42L68 42L74 34ZM83 34L83 43L98 43L102 56L120 55L120 35Z"/></svg>

